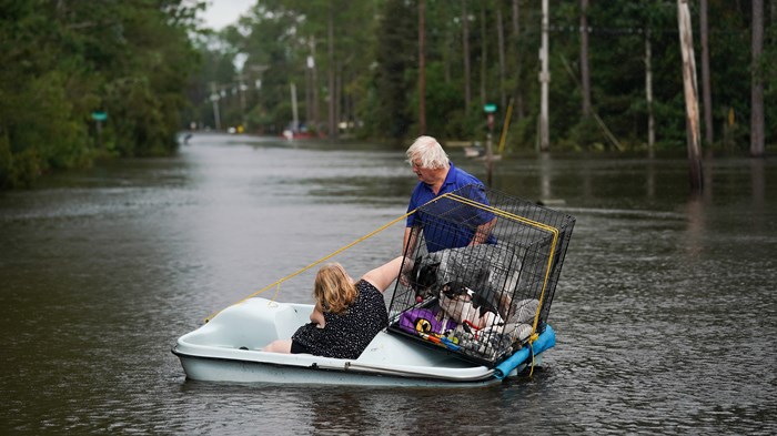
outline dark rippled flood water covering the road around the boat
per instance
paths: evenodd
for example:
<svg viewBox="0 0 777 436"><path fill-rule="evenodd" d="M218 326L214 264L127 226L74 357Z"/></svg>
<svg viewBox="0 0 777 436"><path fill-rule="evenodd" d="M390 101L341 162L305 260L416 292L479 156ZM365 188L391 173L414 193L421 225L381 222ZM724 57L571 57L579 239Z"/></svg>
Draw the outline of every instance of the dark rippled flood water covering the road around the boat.
<svg viewBox="0 0 777 436"><path fill-rule="evenodd" d="M451 150L481 179L482 163ZM775 434L777 164L522 158L494 189L577 219L544 367L483 388L198 383L203 318L405 212L403 149L195 135L0 193L6 434ZM360 274L402 224L335 257ZM312 302L312 273L263 296Z"/></svg>

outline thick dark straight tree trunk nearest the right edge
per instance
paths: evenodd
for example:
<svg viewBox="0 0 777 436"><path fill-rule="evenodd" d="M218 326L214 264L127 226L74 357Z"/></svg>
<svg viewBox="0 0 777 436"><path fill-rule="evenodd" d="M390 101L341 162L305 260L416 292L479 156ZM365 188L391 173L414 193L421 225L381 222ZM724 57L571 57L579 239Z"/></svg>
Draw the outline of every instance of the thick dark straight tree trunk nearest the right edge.
<svg viewBox="0 0 777 436"><path fill-rule="evenodd" d="M764 79L760 59L764 53L764 0L753 0L753 65L750 84L750 155L763 158L764 128Z"/></svg>

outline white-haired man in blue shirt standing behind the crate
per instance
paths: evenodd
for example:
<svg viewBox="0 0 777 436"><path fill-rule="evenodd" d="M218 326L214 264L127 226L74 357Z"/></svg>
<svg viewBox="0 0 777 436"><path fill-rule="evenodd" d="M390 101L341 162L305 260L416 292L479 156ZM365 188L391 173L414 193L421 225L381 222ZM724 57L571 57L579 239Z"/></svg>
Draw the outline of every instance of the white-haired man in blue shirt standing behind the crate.
<svg viewBox="0 0 777 436"><path fill-rule="evenodd" d="M424 211L407 216L402 243L405 253L412 253L415 249L417 229L422 227L430 253L496 242L491 234L496 224L493 213L448 199L428 204L445 193L470 185L462 191L464 195L487 205L483 182L454 166L442 145L432 136L416 139L407 149L406 155L413 172L418 176L418 184L413 190L407 212L425 204L426 206Z"/></svg>

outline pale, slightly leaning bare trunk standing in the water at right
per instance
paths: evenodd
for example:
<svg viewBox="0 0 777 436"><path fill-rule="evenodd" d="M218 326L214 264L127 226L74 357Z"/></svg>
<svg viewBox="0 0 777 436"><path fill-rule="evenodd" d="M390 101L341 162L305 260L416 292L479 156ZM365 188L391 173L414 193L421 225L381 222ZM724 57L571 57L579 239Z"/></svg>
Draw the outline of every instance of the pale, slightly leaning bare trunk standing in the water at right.
<svg viewBox="0 0 777 436"><path fill-rule="evenodd" d="M702 146L699 144L699 113L696 88L696 61L694 60L694 36L690 27L688 0L677 0L677 23L680 51L683 53L683 90L685 92L686 129L688 134L688 163L690 189L698 193L704 187L702 174Z"/></svg>

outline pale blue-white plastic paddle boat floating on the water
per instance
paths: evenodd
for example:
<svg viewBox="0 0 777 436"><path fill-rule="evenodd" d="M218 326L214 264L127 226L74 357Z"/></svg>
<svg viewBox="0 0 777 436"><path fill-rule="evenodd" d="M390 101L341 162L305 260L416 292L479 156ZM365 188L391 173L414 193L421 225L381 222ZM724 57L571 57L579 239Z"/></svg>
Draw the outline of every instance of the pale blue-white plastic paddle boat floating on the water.
<svg viewBox="0 0 777 436"><path fill-rule="evenodd" d="M389 329L380 332L357 359L310 354L279 354L262 347L286 338L310 322L312 304L279 303L252 297L230 306L172 348L186 377L205 382L327 384L369 386L482 386L517 376L542 363L554 346L545 328L533 349L522 348L490 368L444 347L428 346ZM532 353L533 352L533 353Z"/></svg>

